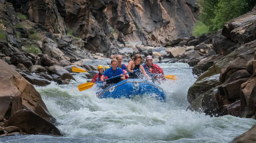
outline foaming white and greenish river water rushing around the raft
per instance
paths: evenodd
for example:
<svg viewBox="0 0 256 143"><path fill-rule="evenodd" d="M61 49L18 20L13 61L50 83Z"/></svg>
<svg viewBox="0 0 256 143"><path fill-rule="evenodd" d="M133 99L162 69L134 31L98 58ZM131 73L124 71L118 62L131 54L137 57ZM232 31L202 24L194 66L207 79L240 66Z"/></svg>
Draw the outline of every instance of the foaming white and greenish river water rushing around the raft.
<svg viewBox="0 0 256 143"><path fill-rule="evenodd" d="M79 92L77 85L86 82L83 74L69 85L51 83L36 87L50 113L57 119L63 137L26 135L0 137L2 142L76 143L76 142L150 142L150 143L219 143L230 142L249 130L254 119L233 116L209 117L186 111L187 91L196 81L192 67L184 63L158 64L165 75L177 75L177 82L160 85L167 99L99 99L92 87Z"/></svg>

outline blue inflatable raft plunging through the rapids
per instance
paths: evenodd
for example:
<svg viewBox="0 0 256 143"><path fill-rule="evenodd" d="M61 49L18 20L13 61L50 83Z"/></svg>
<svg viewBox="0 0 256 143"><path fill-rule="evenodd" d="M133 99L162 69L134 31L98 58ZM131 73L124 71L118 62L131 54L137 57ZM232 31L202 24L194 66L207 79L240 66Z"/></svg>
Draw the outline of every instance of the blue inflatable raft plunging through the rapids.
<svg viewBox="0 0 256 143"><path fill-rule="evenodd" d="M163 88L142 79L126 79L96 92L99 98L132 98L134 96L152 96L165 102L166 94Z"/></svg>

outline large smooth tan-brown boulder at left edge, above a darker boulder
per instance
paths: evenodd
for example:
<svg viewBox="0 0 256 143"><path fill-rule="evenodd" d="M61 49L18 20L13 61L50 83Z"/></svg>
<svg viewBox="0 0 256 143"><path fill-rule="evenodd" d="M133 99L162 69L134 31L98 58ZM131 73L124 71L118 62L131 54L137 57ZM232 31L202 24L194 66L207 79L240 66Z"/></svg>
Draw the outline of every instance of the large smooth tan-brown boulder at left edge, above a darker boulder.
<svg viewBox="0 0 256 143"><path fill-rule="evenodd" d="M24 105L45 120L55 121L34 86L2 60L0 60L0 73L3 85L0 86L0 101L5 101L0 105L0 118L4 116L9 118ZM35 120L31 121L34 122Z"/></svg>

